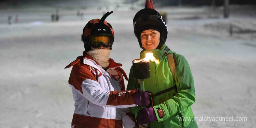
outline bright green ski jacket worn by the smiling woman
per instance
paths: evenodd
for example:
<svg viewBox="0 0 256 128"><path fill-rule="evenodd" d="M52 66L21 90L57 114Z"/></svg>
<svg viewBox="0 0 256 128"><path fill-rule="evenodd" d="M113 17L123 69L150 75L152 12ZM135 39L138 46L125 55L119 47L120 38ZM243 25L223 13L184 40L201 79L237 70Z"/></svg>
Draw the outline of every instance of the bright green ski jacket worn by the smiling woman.
<svg viewBox="0 0 256 128"><path fill-rule="evenodd" d="M153 97L153 108L157 116L157 121L149 123L150 128L198 128L194 120L191 105L195 102L194 80L188 62L184 56L169 50L164 44L161 50L142 51L140 58L145 58L147 52L152 52L159 60L159 64L150 61L150 78L144 80L145 90L149 90L152 95L176 86L173 90ZM174 54L176 61L175 76L170 70L167 55ZM138 88L138 80L133 77L132 67L130 69L127 90ZM159 118L158 109L163 109L164 116ZM131 108L131 112L137 117L141 106ZM191 120L189 120L191 119Z"/></svg>

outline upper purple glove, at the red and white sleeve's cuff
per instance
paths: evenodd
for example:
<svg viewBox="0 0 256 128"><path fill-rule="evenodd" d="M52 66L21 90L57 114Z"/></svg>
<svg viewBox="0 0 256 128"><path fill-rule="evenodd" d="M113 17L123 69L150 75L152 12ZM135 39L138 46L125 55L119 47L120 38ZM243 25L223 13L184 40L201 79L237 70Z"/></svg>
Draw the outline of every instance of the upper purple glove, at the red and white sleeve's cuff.
<svg viewBox="0 0 256 128"><path fill-rule="evenodd" d="M134 102L138 106L146 107L149 105L150 100L148 98L149 94L148 92L142 92L142 91L136 91L134 93Z"/></svg>

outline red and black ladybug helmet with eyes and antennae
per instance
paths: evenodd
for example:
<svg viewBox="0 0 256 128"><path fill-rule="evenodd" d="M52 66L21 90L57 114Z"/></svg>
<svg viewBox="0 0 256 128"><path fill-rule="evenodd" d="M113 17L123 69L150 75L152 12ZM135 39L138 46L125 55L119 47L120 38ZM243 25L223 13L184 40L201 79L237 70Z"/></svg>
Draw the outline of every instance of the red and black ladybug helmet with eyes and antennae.
<svg viewBox="0 0 256 128"><path fill-rule="evenodd" d="M92 19L90 20L86 26L83 28L83 34L81 35L81 39L84 43L84 49L86 51L90 51L91 47L88 43L86 43L89 40L90 35L98 35L98 34L111 34L112 35L112 40L114 42L114 30L112 26L105 21L106 17L108 17L113 11L107 12L102 16L101 19ZM112 49L112 45L109 48L110 50Z"/></svg>

